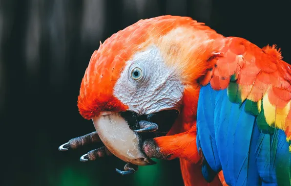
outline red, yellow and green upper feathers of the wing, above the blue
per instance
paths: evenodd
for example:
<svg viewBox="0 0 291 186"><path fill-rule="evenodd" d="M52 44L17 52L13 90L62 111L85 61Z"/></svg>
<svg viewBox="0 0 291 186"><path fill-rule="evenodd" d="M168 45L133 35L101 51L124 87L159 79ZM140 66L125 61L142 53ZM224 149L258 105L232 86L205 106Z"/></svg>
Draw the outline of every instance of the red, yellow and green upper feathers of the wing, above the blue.
<svg viewBox="0 0 291 186"><path fill-rule="evenodd" d="M259 128L274 128L291 137L291 66L282 60L275 46L263 49L242 38L226 38L212 69L201 79L214 90L227 89L229 100L241 104L246 112L258 116ZM290 147L291 150L291 147Z"/></svg>

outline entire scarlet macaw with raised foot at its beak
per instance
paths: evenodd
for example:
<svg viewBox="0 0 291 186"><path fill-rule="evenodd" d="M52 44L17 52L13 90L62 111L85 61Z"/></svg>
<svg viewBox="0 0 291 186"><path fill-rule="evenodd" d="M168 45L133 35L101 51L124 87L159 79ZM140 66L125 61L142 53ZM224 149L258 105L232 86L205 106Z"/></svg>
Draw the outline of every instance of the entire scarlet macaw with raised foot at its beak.
<svg viewBox="0 0 291 186"><path fill-rule="evenodd" d="M77 106L122 175L180 160L185 186L291 186L291 66L276 45L225 37L190 17L140 20L100 42Z"/></svg>

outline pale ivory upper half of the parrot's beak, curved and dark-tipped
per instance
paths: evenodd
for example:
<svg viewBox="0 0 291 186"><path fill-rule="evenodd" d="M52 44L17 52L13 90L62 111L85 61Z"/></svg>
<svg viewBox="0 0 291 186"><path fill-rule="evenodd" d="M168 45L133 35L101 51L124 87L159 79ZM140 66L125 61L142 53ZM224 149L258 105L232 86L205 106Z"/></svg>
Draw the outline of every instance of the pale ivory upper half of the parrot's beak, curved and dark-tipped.
<svg viewBox="0 0 291 186"><path fill-rule="evenodd" d="M136 165L155 164L143 152L139 134L129 128L119 113L94 117L93 123L106 148L116 157Z"/></svg>

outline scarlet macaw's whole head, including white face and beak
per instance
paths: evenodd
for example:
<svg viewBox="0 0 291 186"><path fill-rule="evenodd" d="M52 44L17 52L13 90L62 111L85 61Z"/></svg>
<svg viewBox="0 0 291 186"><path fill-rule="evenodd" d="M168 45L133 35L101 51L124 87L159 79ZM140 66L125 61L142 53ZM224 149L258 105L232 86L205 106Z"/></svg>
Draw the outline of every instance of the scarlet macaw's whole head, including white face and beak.
<svg viewBox="0 0 291 186"><path fill-rule="evenodd" d="M220 37L191 18L141 20L113 34L85 71L78 107L120 159L152 164L143 140L196 119L199 78L220 49ZM176 125L175 123L175 125Z"/></svg>

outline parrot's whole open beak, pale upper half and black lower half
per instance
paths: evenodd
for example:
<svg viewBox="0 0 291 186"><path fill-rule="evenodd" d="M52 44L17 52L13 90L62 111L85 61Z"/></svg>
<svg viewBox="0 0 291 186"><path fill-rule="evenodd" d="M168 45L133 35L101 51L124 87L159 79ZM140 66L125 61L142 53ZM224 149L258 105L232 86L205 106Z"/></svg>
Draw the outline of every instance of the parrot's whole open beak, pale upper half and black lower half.
<svg viewBox="0 0 291 186"><path fill-rule="evenodd" d="M164 136L179 112L165 110L150 115L131 111L94 117L94 127L106 148L121 160L135 165L156 164L143 151L143 140Z"/></svg>

